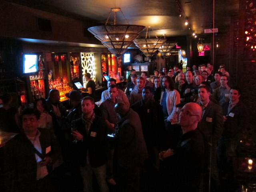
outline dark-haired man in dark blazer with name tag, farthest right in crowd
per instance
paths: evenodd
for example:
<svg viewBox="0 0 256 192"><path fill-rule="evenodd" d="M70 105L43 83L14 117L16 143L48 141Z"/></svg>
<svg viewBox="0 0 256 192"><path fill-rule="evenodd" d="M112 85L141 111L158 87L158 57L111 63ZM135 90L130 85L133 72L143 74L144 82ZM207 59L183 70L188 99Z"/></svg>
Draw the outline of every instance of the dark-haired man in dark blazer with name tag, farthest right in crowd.
<svg viewBox="0 0 256 192"><path fill-rule="evenodd" d="M230 88L230 101L222 104L224 129L218 143L218 165L224 174L232 175L232 157L236 156L236 147L243 131L248 127L248 112L246 106L239 100L240 93L238 87Z"/></svg>

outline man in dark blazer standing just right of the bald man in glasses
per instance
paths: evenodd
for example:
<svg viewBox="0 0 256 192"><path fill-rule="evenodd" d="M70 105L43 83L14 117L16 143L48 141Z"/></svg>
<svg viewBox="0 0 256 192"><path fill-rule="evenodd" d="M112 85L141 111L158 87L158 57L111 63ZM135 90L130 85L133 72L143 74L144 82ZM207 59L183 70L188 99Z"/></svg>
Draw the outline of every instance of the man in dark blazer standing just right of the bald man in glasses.
<svg viewBox="0 0 256 192"><path fill-rule="evenodd" d="M208 86L200 86L198 88L198 97L200 100L198 104L202 108L202 119L198 123L198 130L202 132L206 142L204 189L210 187L212 191L219 191L216 147L223 130L222 109L210 101L210 88ZM209 186L209 183L211 186Z"/></svg>

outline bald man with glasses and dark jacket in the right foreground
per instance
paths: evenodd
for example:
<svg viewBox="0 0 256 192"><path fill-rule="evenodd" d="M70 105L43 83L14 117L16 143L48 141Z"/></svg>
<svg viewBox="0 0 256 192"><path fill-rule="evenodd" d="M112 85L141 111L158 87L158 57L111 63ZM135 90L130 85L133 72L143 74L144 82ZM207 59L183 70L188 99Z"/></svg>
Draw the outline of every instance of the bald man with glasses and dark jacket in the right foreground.
<svg viewBox="0 0 256 192"><path fill-rule="evenodd" d="M168 149L159 158L167 164L164 191L199 192L204 168L204 138L197 129L202 109L196 103L188 103L177 115L182 136L176 151Z"/></svg>

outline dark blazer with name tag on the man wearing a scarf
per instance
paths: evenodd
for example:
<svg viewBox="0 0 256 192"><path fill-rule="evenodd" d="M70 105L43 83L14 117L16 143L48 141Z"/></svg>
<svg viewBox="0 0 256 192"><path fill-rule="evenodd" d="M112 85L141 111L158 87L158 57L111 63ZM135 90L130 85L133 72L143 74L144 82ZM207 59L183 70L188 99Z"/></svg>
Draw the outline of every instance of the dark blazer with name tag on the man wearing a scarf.
<svg viewBox="0 0 256 192"><path fill-rule="evenodd" d="M75 125L78 132L84 136L83 141L77 143L77 158L80 166L84 167L88 163L86 162L87 152L92 167L104 165L106 163L106 127L104 120L95 116L88 134L86 134L82 118L77 119Z"/></svg>

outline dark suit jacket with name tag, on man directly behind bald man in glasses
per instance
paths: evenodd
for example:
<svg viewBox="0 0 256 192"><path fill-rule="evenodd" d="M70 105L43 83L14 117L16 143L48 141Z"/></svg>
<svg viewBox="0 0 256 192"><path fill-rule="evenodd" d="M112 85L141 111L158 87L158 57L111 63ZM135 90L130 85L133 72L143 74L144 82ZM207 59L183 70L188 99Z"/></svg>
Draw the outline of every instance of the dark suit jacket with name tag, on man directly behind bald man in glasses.
<svg viewBox="0 0 256 192"><path fill-rule="evenodd" d="M223 115L219 105L212 101L208 103L204 115L198 123L198 130L202 132L206 142L211 142L214 146L217 146L223 131Z"/></svg>

